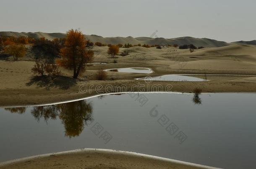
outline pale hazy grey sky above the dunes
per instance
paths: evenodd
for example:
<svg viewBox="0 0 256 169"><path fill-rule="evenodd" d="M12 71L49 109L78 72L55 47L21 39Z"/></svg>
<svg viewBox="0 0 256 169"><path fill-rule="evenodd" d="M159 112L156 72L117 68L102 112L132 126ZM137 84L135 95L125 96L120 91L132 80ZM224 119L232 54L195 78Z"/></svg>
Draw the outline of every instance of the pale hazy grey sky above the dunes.
<svg viewBox="0 0 256 169"><path fill-rule="evenodd" d="M256 0L0 0L0 31L256 39Z"/></svg>

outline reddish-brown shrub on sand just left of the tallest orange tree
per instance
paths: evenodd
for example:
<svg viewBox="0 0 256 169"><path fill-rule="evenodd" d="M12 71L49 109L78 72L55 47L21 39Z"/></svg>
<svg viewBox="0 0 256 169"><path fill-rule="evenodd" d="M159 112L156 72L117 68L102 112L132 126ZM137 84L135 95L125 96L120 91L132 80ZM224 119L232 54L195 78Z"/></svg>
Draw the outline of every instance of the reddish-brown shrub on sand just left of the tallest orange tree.
<svg viewBox="0 0 256 169"><path fill-rule="evenodd" d="M36 61L36 64L31 68L31 71L37 76L49 76L51 78L55 78L60 74L59 67L57 65L41 60Z"/></svg>

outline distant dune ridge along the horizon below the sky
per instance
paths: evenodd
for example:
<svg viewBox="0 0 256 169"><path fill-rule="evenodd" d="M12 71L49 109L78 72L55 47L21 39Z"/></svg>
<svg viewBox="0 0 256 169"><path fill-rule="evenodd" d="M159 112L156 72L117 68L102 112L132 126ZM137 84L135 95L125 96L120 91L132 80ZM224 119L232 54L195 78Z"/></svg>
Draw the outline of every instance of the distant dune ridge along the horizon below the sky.
<svg viewBox="0 0 256 169"><path fill-rule="evenodd" d="M45 37L48 40L53 40L55 38L65 38L65 33L42 33L42 32L36 32L36 33L25 33L25 32L0 32L0 36L29 36L31 38L42 38ZM256 45L256 40L252 41L238 41L238 42L232 42L227 43L223 41L208 39L208 38L193 38L193 37L180 37L180 38L149 38L149 37L138 37L133 38L131 36L128 36L126 38L124 37L108 37L104 38L102 36L98 35L84 35L87 40L90 40L92 42L101 42L105 44L125 44L130 43L132 45L136 45L140 43L148 44L148 45L184 45L184 44L193 44L195 46L204 46L204 47L222 47L227 46L230 44L248 44L248 45Z"/></svg>

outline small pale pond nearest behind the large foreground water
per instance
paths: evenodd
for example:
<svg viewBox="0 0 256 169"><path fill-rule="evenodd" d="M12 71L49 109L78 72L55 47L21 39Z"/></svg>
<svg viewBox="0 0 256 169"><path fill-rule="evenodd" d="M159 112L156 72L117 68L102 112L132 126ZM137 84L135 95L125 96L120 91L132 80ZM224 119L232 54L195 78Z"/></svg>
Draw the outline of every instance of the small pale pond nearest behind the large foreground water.
<svg viewBox="0 0 256 169"><path fill-rule="evenodd" d="M147 81L207 81L206 79L185 75L163 75L157 77L137 78L137 80Z"/></svg>

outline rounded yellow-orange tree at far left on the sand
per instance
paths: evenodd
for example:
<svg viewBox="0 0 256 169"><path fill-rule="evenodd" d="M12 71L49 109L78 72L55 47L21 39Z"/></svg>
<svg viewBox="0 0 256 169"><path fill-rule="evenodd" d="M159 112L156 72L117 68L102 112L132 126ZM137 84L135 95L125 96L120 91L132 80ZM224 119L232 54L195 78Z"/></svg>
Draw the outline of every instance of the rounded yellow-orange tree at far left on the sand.
<svg viewBox="0 0 256 169"><path fill-rule="evenodd" d="M13 56L13 60L24 57L26 54L26 47L24 45L8 45L4 48L4 52Z"/></svg>

